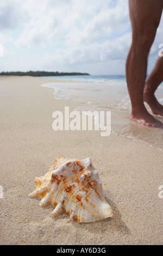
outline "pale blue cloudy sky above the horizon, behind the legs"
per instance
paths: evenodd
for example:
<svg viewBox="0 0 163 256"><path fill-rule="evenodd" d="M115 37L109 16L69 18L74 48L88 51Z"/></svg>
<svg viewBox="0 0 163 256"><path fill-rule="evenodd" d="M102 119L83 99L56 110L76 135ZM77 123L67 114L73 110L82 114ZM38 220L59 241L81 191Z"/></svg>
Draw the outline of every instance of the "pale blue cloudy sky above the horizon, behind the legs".
<svg viewBox="0 0 163 256"><path fill-rule="evenodd" d="M162 21L148 73L163 43ZM128 0L1 0L0 44L0 72L125 74L131 45Z"/></svg>

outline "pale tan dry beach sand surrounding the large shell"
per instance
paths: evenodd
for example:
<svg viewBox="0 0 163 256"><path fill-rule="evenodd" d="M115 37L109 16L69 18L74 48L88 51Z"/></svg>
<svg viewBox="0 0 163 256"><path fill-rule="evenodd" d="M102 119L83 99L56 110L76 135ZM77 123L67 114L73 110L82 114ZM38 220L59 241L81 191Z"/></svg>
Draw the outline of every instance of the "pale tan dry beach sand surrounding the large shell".
<svg viewBox="0 0 163 256"><path fill-rule="evenodd" d="M143 142L100 131L54 131L52 113L77 102L55 100L46 78L1 77L1 245L161 245L162 151ZM52 81L51 81L52 82ZM53 206L28 198L34 179L57 156L91 157L114 219L66 222L50 216Z"/></svg>

